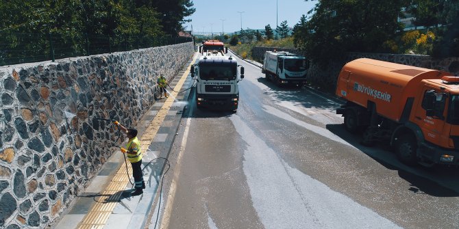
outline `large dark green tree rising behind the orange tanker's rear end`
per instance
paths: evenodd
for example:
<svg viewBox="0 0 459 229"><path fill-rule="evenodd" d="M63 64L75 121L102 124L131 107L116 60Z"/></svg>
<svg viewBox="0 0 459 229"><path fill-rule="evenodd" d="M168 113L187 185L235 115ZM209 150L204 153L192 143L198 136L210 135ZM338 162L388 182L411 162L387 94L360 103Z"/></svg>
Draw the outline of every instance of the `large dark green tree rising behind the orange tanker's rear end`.
<svg viewBox="0 0 459 229"><path fill-rule="evenodd" d="M298 48L322 63L347 51L387 51L384 42L402 31L397 16L404 6L406 0L318 1L301 36L297 32Z"/></svg>

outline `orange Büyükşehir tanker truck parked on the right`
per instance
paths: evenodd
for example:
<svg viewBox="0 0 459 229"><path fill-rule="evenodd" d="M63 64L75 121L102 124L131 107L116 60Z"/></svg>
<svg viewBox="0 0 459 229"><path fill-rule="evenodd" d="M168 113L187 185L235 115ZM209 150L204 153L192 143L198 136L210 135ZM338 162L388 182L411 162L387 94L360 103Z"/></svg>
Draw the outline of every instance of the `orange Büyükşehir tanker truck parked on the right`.
<svg viewBox="0 0 459 229"><path fill-rule="evenodd" d="M343 66L336 110L345 129L362 132L362 144L390 143L398 159L459 165L459 77L448 72L375 59Z"/></svg>

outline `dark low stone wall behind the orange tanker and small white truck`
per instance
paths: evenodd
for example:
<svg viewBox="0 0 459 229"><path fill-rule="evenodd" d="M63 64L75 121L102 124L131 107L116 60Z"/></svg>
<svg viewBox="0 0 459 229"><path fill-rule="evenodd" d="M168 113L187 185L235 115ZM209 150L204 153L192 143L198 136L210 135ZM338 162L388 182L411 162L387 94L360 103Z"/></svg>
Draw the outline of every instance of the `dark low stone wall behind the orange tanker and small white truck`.
<svg viewBox="0 0 459 229"><path fill-rule="evenodd" d="M296 49L280 49L280 48L267 48L267 47L254 47L252 49L252 57L263 58L265 51L288 51L290 53L300 54L301 52ZM341 61L330 62L327 66L321 66L312 62L308 71L308 81L313 87L317 87L324 92L334 93L336 88L336 80L338 74L343 66L358 58L371 58L379 59L386 62L394 62L398 64L406 64L410 66L417 66L421 68L430 68L437 70L445 70L451 72L453 75L459 75L459 57L449 57L446 59L434 59L428 55L401 55L389 53L348 53L345 57L340 58ZM260 60L258 60L260 61ZM262 63L262 61L261 61Z"/></svg>

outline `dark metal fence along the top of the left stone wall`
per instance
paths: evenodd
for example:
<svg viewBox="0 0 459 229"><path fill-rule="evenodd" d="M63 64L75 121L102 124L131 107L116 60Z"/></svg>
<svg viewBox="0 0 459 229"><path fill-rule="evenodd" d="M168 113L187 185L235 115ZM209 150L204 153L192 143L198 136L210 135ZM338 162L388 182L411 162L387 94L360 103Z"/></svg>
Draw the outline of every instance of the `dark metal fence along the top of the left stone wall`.
<svg viewBox="0 0 459 229"><path fill-rule="evenodd" d="M54 61L79 57L145 49L155 46L191 42L192 38L171 36L62 36L34 33L0 32L0 66L30 62Z"/></svg>

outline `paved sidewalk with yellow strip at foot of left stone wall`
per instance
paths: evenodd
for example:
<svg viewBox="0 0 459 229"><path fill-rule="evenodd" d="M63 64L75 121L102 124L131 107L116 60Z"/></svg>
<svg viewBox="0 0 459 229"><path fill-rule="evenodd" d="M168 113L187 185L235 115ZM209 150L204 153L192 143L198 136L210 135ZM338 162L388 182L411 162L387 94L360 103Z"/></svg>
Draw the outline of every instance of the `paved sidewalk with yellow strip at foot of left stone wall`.
<svg viewBox="0 0 459 229"><path fill-rule="evenodd" d="M192 60L170 83L175 91L185 90L193 84L187 73L191 63ZM178 95L171 92L172 95L177 95L175 100L173 96L158 100L136 126L144 151L142 169L146 188L143 194L130 196L134 189L127 180L123 154L119 151L114 152L110 160L103 164L99 174L91 179L85 192L75 198L71 209L54 228L143 228L161 183L162 171L168 168L166 161L158 158L169 156L189 93L190 90ZM176 103L179 101L185 103ZM127 165L129 176L134 183L129 161Z"/></svg>

